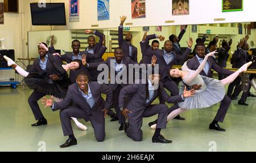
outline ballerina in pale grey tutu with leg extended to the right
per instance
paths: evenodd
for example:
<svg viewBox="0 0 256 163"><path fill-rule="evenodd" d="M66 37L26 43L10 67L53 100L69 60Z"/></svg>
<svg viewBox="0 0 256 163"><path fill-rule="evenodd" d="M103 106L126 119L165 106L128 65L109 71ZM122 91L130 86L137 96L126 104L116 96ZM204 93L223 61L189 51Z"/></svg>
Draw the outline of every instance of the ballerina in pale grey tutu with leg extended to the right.
<svg viewBox="0 0 256 163"><path fill-rule="evenodd" d="M212 53L205 55L203 62L197 68L196 71L190 70L187 66L187 62L181 67L181 70L178 68L171 69L170 75L172 78L181 78L182 83L180 86L180 92L184 91L184 88L191 88L193 85L200 85L199 90L195 93L194 96L185 98L183 102L179 102L179 109L172 111L168 117L167 122L171 121L174 117L187 111L188 109L201 109L201 108L208 108L218 102L222 101L225 96L225 88L224 85L232 83L234 79L240 75L241 72L247 71L247 68L253 62L248 62L239 68L236 72L232 75L229 75L227 78L222 80L208 78L207 76L199 75L200 72L204 69L205 64L209 57L216 54L216 50ZM151 128L155 129L156 125L152 125ZM225 131L225 130L223 130Z"/></svg>

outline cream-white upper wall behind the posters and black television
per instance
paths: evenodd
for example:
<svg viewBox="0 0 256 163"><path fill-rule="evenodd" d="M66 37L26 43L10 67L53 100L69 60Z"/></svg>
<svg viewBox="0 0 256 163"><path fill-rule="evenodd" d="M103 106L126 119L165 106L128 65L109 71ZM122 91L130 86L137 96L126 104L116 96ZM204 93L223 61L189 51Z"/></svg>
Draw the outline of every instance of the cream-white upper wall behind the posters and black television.
<svg viewBox="0 0 256 163"><path fill-rule="evenodd" d="M25 0L26 2L26 0ZM38 2L38 1L27 1ZM49 2L49 1L46 1ZM65 2L68 20L68 0L51 0L51 2ZM119 25L119 16L127 15L126 23L133 23L130 27L155 26L155 25L180 25L180 24L209 24L209 23L233 23L256 22L254 8L255 0L243 1L243 11L222 12L221 0L190 0L189 15L172 16L170 0L147 0L146 18L131 19L131 0L110 1L110 20L97 21L97 0L80 0L80 22L68 23L67 26L53 29L84 29L98 24L98 28L114 28ZM26 12L29 12L29 4ZM30 18L30 16L27 16ZM225 21L214 22L214 18L225 18ZM165 23L166 20L174 20L174 23ZM31 30L42 30L41 27L32 27ZM43 29L45 30L45 28Z"/></svg>

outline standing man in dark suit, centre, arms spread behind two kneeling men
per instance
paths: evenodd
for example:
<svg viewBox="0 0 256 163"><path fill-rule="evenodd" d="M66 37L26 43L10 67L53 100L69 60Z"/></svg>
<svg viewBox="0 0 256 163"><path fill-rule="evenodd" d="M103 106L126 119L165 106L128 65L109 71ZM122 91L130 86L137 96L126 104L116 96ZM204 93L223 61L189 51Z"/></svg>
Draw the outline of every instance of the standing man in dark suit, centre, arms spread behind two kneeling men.
<svg viewBox="0 0 256 163"><path fill-rule="evenodd" d="M122 48L116 48L115 51L114 51L114 55L115 57L112 58L108 58L107 61L105 62L99 62L99 63L86 63L86 67L89 67L91 69L96 69L99 65L101 64L105 64L109 67L109 72L114 72L115 75L113 76L114 80L112 79L112 75L110 75L110 81L115 81L115 77L119 74L121 75L123 73L123 66L126 66L128 67L129 64L134 64L135 62L130 58L130 57L123 57L123 50ZM111 61L114 62L114 66L111 65ZM121 124L120 127L119 127L119 131L122 131L123 130L123 125L125 124L125 117L123 117L120 113L120 110L119 110L119 105L118 105L118 97L119 97L119 93L121 91L121 89L123 87L126 87L128 85L128 76L129 73L127 73L127 81L126 83L121 83L121 84L117 84L116 82L114 84L109 84L109 86L112 88L113 90L113 96L114 96L114 108L115 108L115 113L117 113L117 116L119 118L119 123ZM108 78L109 79L109 78Z"/></svg>

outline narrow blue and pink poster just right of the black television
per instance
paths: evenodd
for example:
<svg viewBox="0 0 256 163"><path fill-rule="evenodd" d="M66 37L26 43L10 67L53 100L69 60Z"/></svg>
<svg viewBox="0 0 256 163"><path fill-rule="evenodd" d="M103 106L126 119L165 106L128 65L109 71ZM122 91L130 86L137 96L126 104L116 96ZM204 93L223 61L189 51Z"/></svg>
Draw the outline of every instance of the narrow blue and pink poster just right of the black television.
<svg viewBox="0 0 256 163"><path fill-rule="evenodd" d="M69 22L79 22L79 0L69 0Z"/></svg>

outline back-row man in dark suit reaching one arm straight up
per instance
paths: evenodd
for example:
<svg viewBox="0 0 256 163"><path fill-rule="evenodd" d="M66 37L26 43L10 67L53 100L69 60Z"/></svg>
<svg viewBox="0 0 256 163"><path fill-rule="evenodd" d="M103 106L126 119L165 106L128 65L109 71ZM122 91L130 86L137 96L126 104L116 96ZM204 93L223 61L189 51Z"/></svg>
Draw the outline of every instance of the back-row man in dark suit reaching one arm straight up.
<svg viewBox="0 0 256 163"><path fill-rule="evenodd" d="M121 23L118 27L118 45L123 49L123 57L130 57L135 63L138 63L138 50L135 46L131 45L133 35L131 35L131 33L127 33L125 40L123 40L123 23L125 22L126 16L122 16L120 19Z"/></svg>

